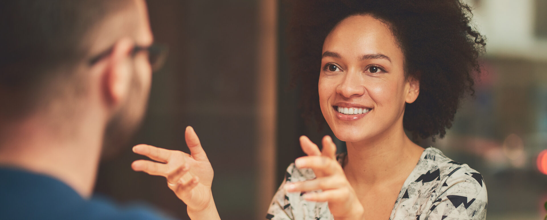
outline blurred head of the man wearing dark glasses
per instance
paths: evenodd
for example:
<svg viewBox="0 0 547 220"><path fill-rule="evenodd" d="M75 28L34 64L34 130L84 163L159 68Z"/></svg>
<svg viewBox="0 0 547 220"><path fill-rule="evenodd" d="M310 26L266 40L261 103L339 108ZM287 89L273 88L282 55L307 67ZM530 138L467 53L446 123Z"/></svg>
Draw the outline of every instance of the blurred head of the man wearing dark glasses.
<svg viewBox="0 0 547 220"><path fill-rule="evenodd" d="M2 133L45 117L71 135L65 125L91 118L112 143L138 125L152 72L144 1L1 1L0 30Z"/></svg>

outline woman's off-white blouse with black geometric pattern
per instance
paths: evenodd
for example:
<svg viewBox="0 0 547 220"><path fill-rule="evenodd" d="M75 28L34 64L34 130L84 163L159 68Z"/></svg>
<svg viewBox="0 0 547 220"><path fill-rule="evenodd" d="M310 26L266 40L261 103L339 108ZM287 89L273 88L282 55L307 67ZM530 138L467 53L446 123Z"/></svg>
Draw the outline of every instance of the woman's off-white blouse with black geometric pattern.
<svg viewBox="0 0 547 220"><path fill-rule="evenodd" d="M346 154L337 155L340 164ZM266 218L270 220L334 219L327 202L306 201L303 193L286 193L284 184L311 180L311 169L287 168L285 180L274 195ZM447 158L429 147L406 178L389 219L485 219L486 185L479 172Z"/></svg>

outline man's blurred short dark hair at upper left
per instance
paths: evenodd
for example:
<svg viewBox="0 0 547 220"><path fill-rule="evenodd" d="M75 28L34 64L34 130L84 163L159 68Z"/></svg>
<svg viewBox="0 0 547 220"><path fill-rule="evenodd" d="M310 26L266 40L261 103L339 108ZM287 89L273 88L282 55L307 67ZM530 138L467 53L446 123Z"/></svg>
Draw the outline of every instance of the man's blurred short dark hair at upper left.
<svg viewBox="0 0 547 220"><path fill-rule="evenodd" d="M88 53L86 34L125 0L0 1L0 117L16 117L44 99L58 71ZM45 89L45 90L44 90Z"/></svg>

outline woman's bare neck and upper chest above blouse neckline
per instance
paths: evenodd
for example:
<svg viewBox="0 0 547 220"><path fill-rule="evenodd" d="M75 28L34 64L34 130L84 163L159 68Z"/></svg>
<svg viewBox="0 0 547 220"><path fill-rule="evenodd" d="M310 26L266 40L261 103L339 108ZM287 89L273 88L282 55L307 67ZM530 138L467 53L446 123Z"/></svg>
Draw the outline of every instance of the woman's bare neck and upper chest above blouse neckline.
<svg viewBox="0 0 547 220"><path fill-rule="evenodd" d="M344 171L357 186L374 186L398 181L414 170L423 148L400 130L367 142L346 142Z"/></svg>

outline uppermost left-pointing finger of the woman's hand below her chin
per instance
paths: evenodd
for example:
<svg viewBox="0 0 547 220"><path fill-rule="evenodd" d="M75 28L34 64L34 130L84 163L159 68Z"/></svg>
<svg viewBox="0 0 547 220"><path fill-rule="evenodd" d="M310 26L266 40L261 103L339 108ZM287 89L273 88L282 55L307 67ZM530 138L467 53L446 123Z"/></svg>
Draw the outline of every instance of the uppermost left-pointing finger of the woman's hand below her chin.
<svg viewBox="0 0 547 220"><path fill-rule="evenodd" d="M340 171L340 165L336 160L324 157L324 156L306 156L298 158L294 161L294 164L299 169L310 168L316 173L317 177L332 175L333 173ZM340 168L341 169L341 168ZM342 170L342 172L344 172ZM318 175L323 173L323 175Z"/></svg>

